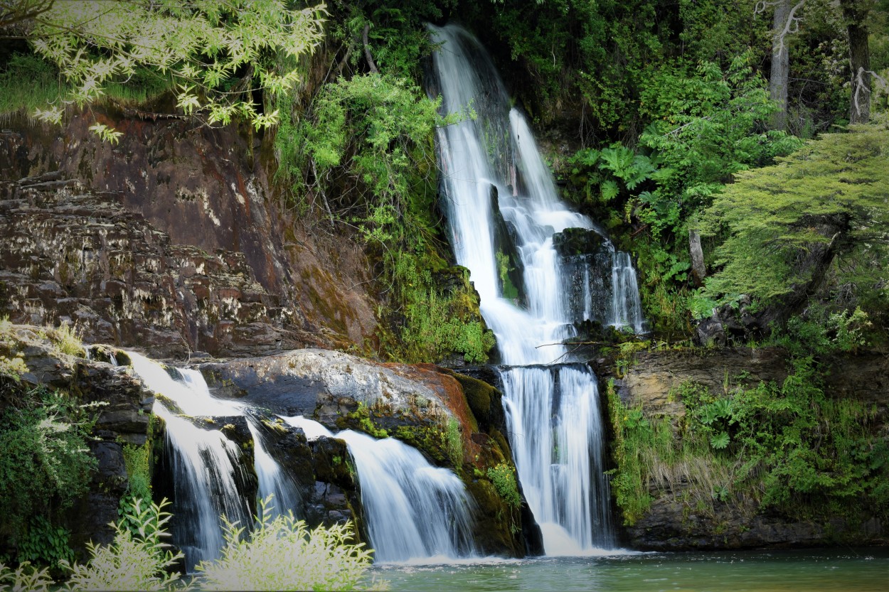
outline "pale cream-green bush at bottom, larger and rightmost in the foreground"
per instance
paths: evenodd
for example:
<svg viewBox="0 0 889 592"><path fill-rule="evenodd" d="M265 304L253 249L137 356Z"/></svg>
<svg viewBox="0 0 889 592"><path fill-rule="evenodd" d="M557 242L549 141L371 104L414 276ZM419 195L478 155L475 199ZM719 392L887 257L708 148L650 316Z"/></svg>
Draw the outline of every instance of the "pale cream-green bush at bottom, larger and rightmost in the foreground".
<svg viewBox="0 0 889 592"><path fill-rule="evenodd" d="M198 585L204 590L352 590L371 564L372 550L349 544L351 524L318 526L309 531L292 512L276 514L271 496L260 502L258 525L225 524L225 547L213 562L201 562ZM274 517L273 517L274 516ZM372 582L380 588L385 582Z"/></svg>

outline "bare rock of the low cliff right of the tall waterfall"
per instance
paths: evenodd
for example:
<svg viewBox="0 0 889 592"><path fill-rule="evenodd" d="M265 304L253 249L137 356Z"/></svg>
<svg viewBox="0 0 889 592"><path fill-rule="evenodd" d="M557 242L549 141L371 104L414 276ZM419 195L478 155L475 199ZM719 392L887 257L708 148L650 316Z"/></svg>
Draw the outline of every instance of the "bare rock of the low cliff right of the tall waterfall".
<svg viewBox="0 0 889 592"><path fill-rule="evenodd" d="M877 410L879 435L889 438L889 357L876 353L837 357L826 361L832 372L825 392L852 397ZM741 372L746 372L741 378ZM642 405L646 416L674 420L685 414L677 388L694 382L721 393L726 384L753 385L760 380L781 383L788 375L786 353L780 348L725 348L700 352L645 352L637 356L622 380L615 380L621 402ZM663 487L650 483L651 508L627 527L633 548L678 550L689 548L805 547L826 544L837 536L860 544L885 542L889 524L876 517L863 524L789 522L758 512L754 500L714 502L701 511L683 498L684 485ZM877 508L875 508L876 510Z"/></svg>

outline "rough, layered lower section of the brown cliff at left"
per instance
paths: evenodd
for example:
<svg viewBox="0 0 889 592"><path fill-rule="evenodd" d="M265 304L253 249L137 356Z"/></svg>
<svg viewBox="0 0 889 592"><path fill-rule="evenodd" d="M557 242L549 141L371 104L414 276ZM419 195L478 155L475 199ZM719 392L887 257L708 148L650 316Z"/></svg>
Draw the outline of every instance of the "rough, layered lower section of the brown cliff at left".
<svg viewBox="0 0 889 592"><path fill-rule="evenodd" d="M84 339L243 355L311 339L252 278L244 254L172 244L121 196L23 180L0 201L0 308L29 324L75 322Z"/></svg>

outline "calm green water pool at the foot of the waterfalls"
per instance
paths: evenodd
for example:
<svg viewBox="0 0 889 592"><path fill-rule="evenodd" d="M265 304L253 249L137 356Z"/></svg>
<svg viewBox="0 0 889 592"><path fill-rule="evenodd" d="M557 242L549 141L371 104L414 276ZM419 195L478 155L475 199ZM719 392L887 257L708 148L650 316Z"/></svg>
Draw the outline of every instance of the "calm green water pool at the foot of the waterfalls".
<svg viewBox="0 0 889 592"><path fill-rule="evenodd" d="M887 592L889 548L821 548L377 565L391 590Z"/></svg>

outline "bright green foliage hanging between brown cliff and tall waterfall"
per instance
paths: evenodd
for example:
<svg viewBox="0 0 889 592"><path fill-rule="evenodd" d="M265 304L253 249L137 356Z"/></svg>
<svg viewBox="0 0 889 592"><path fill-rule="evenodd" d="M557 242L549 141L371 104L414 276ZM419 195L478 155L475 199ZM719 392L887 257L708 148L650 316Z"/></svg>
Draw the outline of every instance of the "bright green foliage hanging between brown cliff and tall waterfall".
<svg viewBox="0 0 889 592"><path fill-rule="evenodd" d="M436 206L436 126L471 114L440 116L439 106L403 76L378 74L324 85L308 114L281 98L277 180L295 212L364 243L377 273L380 356L485 362L493 334L469 272L447 262Z"/></svg>

